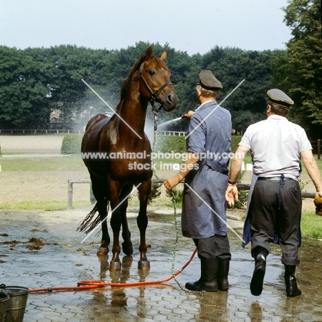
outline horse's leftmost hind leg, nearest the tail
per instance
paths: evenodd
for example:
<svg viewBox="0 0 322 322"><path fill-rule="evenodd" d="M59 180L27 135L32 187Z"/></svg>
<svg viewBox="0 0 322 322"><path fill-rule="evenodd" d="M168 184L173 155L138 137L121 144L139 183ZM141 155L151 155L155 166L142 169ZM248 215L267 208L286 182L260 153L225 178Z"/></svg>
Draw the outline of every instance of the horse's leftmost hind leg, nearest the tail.
<svg viewBox="0 0 322 322"><path fill-rule="evenodd" d="M98 248L97 255L104 256L109 253L109 231L107 229L107 196L106 196L106 186L103 181L98 180L91 173L92 180L92 190L94 197L97 202L98 213L100 215L100 223L102 226L102 241L100 244L100 248Z"/></svg>

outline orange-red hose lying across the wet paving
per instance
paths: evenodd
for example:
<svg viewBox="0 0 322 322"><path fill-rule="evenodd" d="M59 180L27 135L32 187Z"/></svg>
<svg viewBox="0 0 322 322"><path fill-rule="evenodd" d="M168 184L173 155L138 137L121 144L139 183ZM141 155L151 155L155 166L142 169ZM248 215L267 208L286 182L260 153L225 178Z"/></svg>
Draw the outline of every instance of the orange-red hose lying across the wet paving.
<svg viewBox="0 0 322 322"><path fill-rule="evenodd" d="M193 257L195 257L195 253L197 253L197 248L193 251L193 255L191 255L189 261L182 266L181 270L178 270L173 275L168 277L167 279L161 279L159 281L140 281L140 282L132 282L132 283L105 283L103 281L78 281L78 286L65 286L65 287L54 287L54 288L32 288L29 292L52 292L54 290L89 290L92 288L101 288L103 286L116 286L116 287L127 287L127 286L143 286L143 285L151 285L151 284L160 284L166 281L170 281L173 277L177 276L188 266Z"/></svg>

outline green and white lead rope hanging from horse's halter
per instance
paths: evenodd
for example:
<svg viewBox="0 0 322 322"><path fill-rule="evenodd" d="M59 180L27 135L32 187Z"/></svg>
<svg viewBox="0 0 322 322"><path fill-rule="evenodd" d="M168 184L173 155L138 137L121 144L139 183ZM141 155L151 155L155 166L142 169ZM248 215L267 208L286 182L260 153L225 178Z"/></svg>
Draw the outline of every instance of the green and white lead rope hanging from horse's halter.
<svg viewBox="0 0 322 322"><path fill-rule="evenodd" d="M156 140L156 132L158 129L158 113L160 111L159 109L155 109L154 108L154 101L152 105L152 111L154 114L154 132L153 132L153 146L152 146L152 151L154 151L155 148L155 140ZM155 175L155 178L158 180L158 182L160 182L160 178L158 177L158 174L156 173L154 167L152 167L153 169L153 173ZM181 290L183 290L184 292L191 292L191 293L196 293L196 294L200 294L202 297L204 296L204 292L199 292L199 291L192 291L192 290L187 290L186 288L184 288L182 286L182 284L178 281L176 275L175 275L175 270L174 270L174 264L175 264L175 253L177 252L177 247L178 247L178 239L179 239L179 228L178 228L178 221L177 221L177 205L175 203L175 195L173 193L173 191L171 190L171 197L172 197L172 204L173 204L173 217L174 217L174 221L175 221L175 244L173 246L173 257L172 257L172 276L175 279L175 281L177 282L178 286L180 287ZM180 272L182 272L182 269L180 270Z"/></svg>

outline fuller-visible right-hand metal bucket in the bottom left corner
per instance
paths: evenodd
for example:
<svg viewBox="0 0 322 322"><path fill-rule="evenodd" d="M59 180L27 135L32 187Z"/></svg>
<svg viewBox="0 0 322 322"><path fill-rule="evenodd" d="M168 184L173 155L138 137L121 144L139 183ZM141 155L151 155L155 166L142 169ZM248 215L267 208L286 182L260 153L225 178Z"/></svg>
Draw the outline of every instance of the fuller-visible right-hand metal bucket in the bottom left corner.
<svg viewBox="0 0 322 322"><path fill-rule="evenodd" d="M4 286L2 284L0 290L6 292L10 297L4 321L23 322L29 289L22 286Z"/></svg>

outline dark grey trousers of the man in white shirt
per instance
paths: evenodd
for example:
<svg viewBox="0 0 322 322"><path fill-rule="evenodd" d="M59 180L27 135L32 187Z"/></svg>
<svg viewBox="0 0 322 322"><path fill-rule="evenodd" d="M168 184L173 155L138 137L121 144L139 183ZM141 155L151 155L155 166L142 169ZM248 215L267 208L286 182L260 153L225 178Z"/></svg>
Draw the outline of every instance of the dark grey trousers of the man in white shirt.
<svg viewBox="0 0 322 322"><path fill-rule="evenodd" d="M276 233L282 251L282 264L298 265L301 208L299 182L288 179L280 186L279 180L258 179L250 204L252 253L257 246L269 252L269 243L274 241Z"/></svg>

